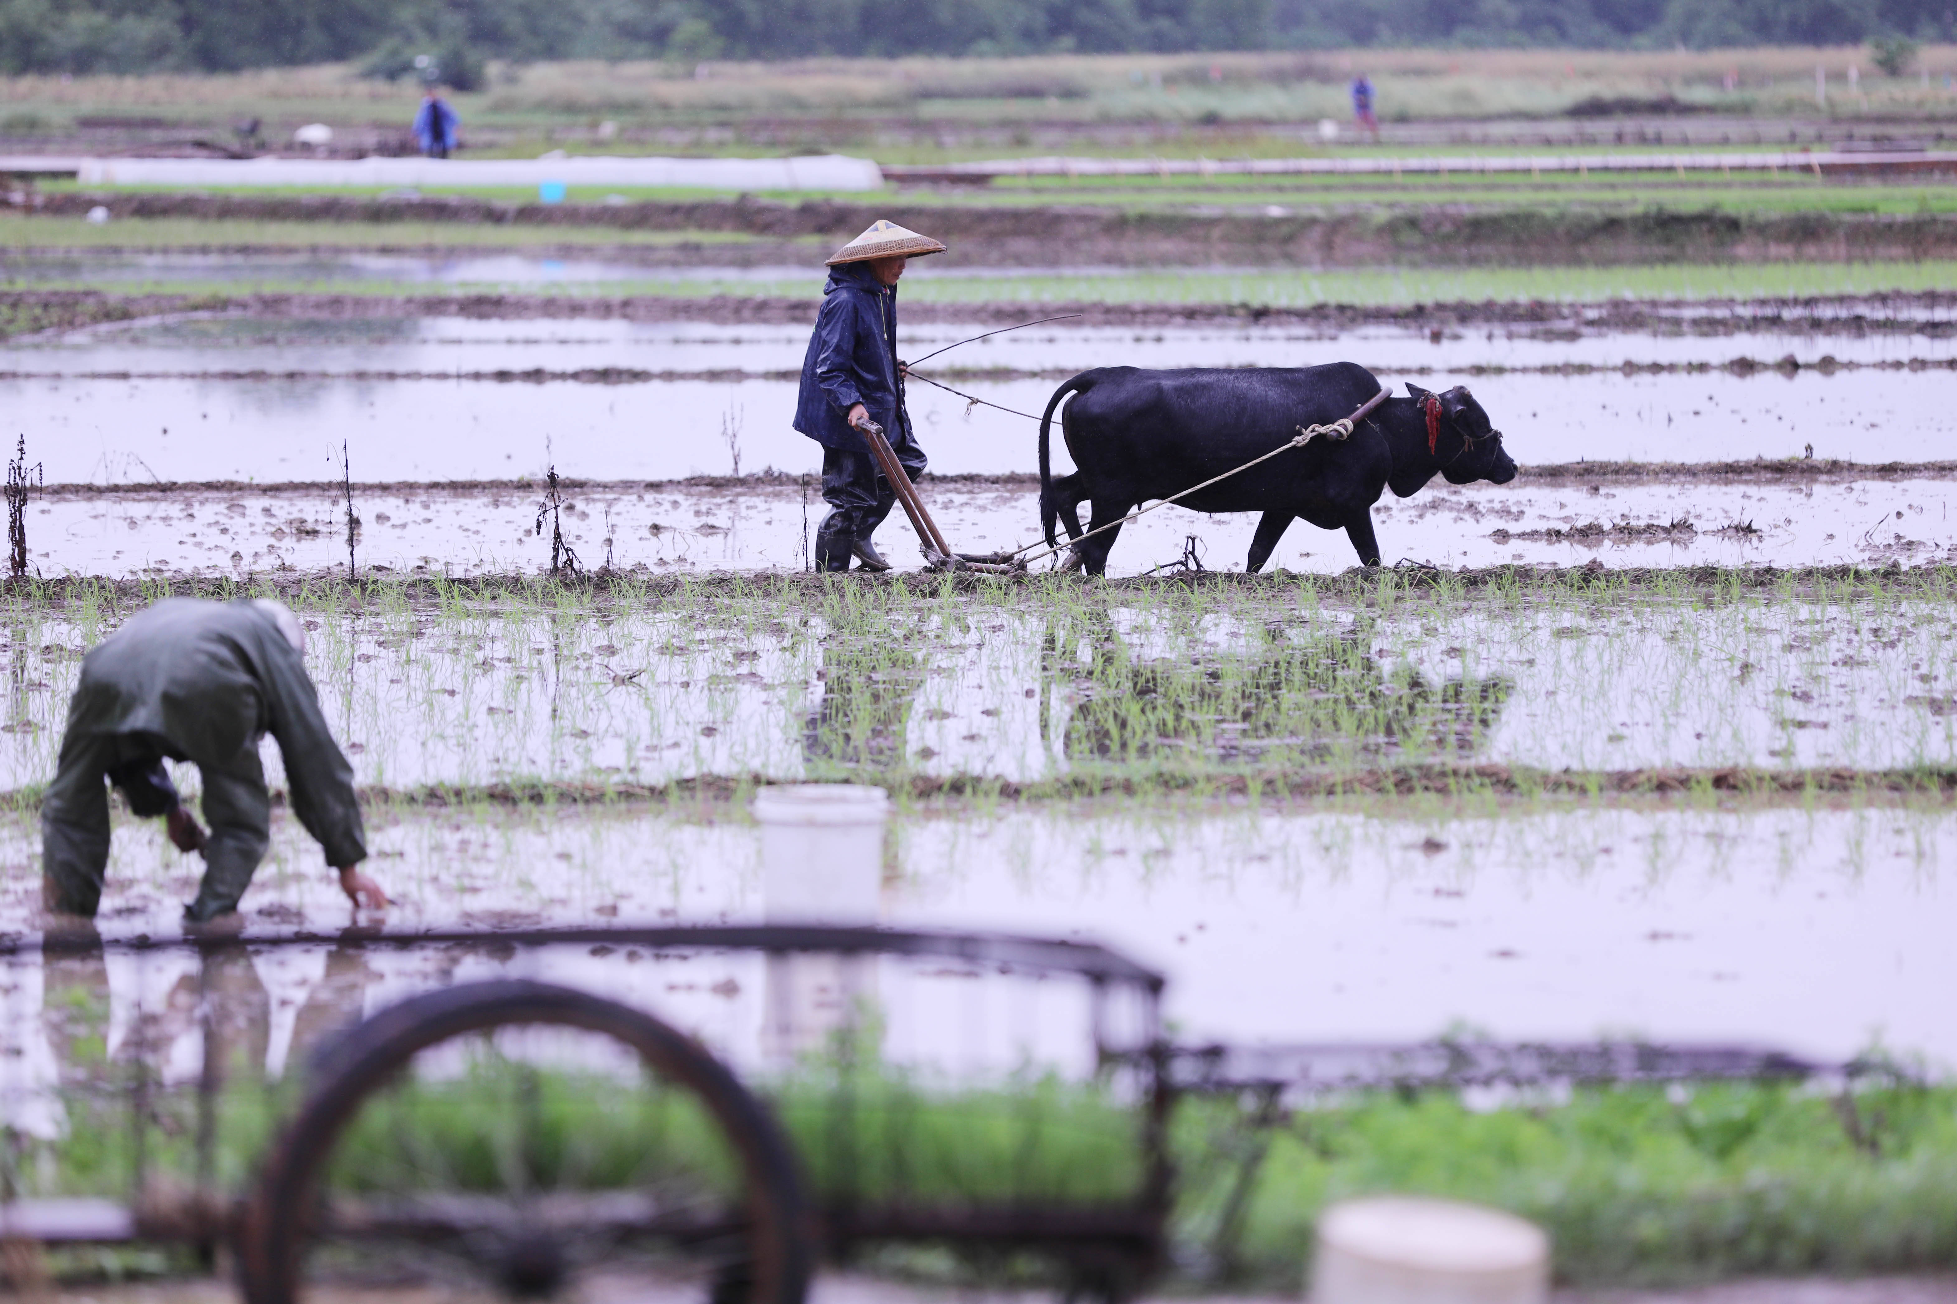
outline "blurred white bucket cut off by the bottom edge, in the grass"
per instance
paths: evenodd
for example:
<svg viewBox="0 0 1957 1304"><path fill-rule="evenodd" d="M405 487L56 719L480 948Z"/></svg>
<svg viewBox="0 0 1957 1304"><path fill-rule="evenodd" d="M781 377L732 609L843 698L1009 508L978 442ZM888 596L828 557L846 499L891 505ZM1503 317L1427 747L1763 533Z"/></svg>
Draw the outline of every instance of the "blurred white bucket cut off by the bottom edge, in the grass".
<svg viewBox="0 0 1957 1304"><path fill-rule="evenodd" d="M1550 1238L1499 1208L1376 1196L1319 1216L1311 1304L1544 1304Z"/></svg>

